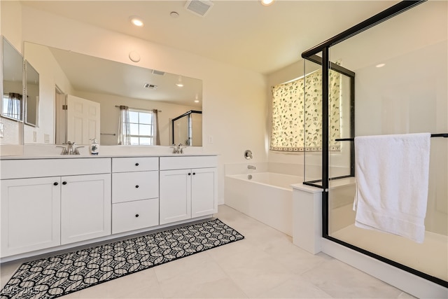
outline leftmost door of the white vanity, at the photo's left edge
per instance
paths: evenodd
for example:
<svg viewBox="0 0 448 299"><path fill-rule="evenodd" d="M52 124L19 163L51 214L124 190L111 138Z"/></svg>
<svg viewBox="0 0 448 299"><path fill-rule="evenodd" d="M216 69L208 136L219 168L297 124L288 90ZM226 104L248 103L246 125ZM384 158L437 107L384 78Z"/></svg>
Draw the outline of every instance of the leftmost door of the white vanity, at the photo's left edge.
<svg viewBox="0 0 448 299"><path fill-rule="evenodd" d="M1 181L1 256L60 243L59 176Z"/></svg>

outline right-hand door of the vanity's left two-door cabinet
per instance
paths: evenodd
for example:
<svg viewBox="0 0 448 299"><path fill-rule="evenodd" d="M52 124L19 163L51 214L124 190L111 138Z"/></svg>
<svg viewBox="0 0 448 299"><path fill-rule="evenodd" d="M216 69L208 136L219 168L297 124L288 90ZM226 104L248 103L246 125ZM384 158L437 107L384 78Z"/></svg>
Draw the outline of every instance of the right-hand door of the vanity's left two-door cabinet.
<svg viewBox="0 0 448 299"><path fill-rule="evenodd" d="M111 234L111 174L63 176L61 243Z"/></svg>

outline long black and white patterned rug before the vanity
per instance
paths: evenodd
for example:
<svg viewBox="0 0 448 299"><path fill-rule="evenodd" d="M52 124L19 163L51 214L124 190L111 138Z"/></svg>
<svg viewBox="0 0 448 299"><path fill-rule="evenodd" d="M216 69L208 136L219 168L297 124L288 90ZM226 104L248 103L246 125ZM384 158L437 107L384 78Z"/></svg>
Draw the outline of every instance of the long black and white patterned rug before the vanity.
<svg viewBox="0 0 448 299"><path fill-rule="evenodd" d="M219 219L22 264L0 293L57 298L194 253L244 239Z"/></svg>

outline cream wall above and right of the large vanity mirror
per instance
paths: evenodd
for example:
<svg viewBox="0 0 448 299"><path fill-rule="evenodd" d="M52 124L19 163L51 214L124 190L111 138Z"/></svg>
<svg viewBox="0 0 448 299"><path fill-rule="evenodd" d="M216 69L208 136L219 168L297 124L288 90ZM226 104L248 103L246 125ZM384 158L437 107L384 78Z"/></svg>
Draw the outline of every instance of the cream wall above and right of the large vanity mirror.
<svg viewBox="0 0 448 299"><path fill-rule="evenodd" d="M22 40L127 64L134 50L137 65L203 81L204 151L218 153L218 197L223 203L223 165L244 162L244 150L265 161L265 77L174 48L110 32L82 22L22 6ZM213 144L209 144L212 137Z"/></svg>

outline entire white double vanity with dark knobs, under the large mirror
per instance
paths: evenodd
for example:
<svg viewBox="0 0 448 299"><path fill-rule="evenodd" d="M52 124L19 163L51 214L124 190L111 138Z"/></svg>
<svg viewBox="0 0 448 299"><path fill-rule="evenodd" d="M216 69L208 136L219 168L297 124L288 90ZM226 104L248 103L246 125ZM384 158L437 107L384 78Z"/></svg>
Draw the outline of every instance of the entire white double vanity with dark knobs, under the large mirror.
<svg viewBox="0 0 448 299"><path fill-rule="evenodd" d="M216 155L3 157L1 259L209 218Z"/></svg>

